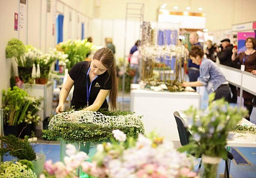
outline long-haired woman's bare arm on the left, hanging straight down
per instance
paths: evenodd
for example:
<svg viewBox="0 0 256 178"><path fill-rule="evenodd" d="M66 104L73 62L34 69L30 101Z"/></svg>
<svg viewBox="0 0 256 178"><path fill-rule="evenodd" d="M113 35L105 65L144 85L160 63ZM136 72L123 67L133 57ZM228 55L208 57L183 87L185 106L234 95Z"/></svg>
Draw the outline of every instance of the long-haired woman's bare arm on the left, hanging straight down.
<svg viewBox="0 0 256 178"><path fill-rule="evenodd" d="M68 79L66 79L66 83L64 84L64 86L63 86L63 88L61 89L61 92L60 92L58 107L56 107L56 112L57 113L63 112L64 102L66 102L66 98L68 97L69 92L70 92L73 85L74 85L74 80L72 80L71 77L68 76Z"/></svg>

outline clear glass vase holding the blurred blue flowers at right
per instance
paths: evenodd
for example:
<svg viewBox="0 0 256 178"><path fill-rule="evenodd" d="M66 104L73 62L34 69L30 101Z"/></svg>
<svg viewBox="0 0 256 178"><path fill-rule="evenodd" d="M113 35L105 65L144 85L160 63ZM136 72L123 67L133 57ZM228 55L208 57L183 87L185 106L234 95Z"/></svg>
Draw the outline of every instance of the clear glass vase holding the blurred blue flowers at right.
<svg viewBox="0 0 256 178"><path fill-rule="evenodd" d="M202 156L203 162L203 172L201 173L201 178L216 178L218 172L218 166L221 162L221 158L219 157L211 157L211 156Z"/></svg>

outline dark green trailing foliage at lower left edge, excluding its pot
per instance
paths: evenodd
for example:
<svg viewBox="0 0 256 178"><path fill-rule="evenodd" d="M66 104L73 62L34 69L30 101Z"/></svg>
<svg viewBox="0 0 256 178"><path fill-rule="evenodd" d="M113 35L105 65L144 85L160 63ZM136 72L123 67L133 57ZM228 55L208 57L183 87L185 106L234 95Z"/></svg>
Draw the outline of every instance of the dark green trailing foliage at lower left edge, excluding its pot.
<svg viewBox="0 0 256 178"><path fill-rule="evenodd" d="M14 135L0 136L0 140L3 144L0 148L0 154L4 156L9 155L16 157L17 159L27 159L33 161L36 159L35 151L30 145L28 138L25 139L17 138Z"/></svg>

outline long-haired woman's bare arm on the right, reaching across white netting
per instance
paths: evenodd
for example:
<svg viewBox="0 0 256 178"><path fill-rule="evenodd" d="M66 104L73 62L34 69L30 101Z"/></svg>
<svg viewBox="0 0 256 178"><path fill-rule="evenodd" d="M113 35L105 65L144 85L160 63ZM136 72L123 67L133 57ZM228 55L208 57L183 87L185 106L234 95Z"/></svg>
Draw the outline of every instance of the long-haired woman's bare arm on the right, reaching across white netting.
<svg viewBox="0 0 256 178"><path fill-rule="evenodd" d="M84 108L84 110L80 110L80 111L97 111L97 110L99 110L100 107L102 106L103 102L107 98L107 94L109 94L109 92L110 92L110 90L100 89L100 92L97 95L97 98L95 99L93 104L90 105L89 107Z"/></svg>

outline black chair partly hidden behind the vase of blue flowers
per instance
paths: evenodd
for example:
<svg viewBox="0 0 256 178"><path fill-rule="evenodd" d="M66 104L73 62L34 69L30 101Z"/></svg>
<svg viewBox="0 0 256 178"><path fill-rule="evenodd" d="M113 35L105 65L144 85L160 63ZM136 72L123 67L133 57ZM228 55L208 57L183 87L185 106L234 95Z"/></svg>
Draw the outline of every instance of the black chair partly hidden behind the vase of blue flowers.
<svg viewBox="0 0 256 178"><path fill-rule="evenodd" d="M185 146L189 143L189 138L192 135L187 130L187 127L185 126L185 120L182 117L180 117L180 113L175 111L173 113L173 115L175 116L175 120L176 120L176 123L177 123L177 130L178 130L179 137L180 137L180 144L182 146ZM231 160L234 159L234 156L233 156L232 153L230 153L229 151L227 151L227 153L228 153L228 159L231 159ZM198 171L200 170L201 162L202 162L202 160L200 161L200 164L198 166ZM225 174L226 174L226 177L229 177L228 160L225 160Z"/></svg>

